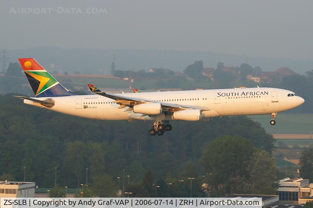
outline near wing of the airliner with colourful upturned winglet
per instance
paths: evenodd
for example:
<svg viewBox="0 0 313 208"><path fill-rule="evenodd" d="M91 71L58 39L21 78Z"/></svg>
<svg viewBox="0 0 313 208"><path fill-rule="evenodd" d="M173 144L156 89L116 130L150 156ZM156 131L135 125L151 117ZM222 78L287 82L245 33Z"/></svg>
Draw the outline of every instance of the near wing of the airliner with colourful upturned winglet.
<svg viewBox="0 0 313 208"><path fill-rule="evenodd" d="M143 103L161 103L162 108L167 109L169 112L175 112L179 110L186 110L186 109L201 109L202 111L208 111L211 110L208 107L205 106L197 106L197 105L181 105L181 104L173 104L173 103L164 103L164 102L156 102L153 100L149 99L139 99L139 98L132 98L132 97L127 97L124 96L124 94L110 94L110 93L105 93L102 92L100 89L96 88L94 85L88 84L88 87L91 92L95 94L99 94L101 96L114 99L115 103L120 104L119 109L125 108L125 107L130 107L131 109L127 110L132 110L132 107L134 105L138 104L143 104Z"/></svg>

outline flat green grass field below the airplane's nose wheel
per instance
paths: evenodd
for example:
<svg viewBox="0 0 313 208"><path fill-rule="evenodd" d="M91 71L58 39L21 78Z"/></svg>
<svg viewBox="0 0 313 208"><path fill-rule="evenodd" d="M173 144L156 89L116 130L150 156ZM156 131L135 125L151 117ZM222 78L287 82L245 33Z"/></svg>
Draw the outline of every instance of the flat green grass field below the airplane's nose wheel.
<svg viewBox="0 0 313 208"><path fill-rule="evenodd" d="M310 134L313 131L313 114L278 113L274 126L269 124L270 115L254 115L249 117L261 123L267 133Z"/></svg>

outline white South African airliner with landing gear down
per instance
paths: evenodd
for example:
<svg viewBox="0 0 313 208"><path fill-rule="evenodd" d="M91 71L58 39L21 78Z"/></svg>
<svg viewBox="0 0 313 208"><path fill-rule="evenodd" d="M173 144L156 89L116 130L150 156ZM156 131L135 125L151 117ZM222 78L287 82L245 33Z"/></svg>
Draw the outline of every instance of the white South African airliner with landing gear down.
<svg viewBox="0 0 313 208"><path fill-rule="evenodd" d="M172 130L171 120L211 121L233 115L271 114L270 124L275 125L278 112L304 102L289 90L263 87L109 94L89 84L95 94L76 95L33 58L18 60L35 94L15 96L25 104L90 119L153 121L150 135Z"/></svg>

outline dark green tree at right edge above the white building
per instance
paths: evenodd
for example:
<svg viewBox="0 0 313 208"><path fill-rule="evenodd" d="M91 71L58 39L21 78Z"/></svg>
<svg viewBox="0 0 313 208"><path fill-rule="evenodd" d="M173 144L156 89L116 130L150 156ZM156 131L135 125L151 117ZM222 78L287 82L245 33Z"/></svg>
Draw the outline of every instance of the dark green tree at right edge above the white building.
<svg viewBox="0 0 313 208"><path fill-rule="evenodd" d="M301 178L313 181L313 149L306 149L301 153L300 165Z"/></svg>

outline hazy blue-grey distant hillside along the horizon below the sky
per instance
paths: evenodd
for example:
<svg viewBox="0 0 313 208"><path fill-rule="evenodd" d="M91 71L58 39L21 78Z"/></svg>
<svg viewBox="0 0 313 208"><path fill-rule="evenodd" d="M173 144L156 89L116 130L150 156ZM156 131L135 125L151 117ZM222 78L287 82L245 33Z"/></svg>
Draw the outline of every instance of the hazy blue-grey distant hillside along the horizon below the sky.
<svg viewBox="0 0 313 208"><path fill-rule="evenodd" d="M304 74L313 69L313 60L292 60L283 58L249 57L246 55L230 55L201 51L167 51L155 49L63 49L56 47L40 47L26 50L8 50L10 62L19 57L33 57L47 70L64 73L92 73L109 74L110 66L115 54L115 68L121 70L149 70L150 68L167 68L182 71L195 60L203 60L204 67L214 67L218 61L225 66L239 66L248 63L255 67L260 66L263 71L274 71L287 66L293 71ZM49 67L54 64L54 68Z"/></svg>

